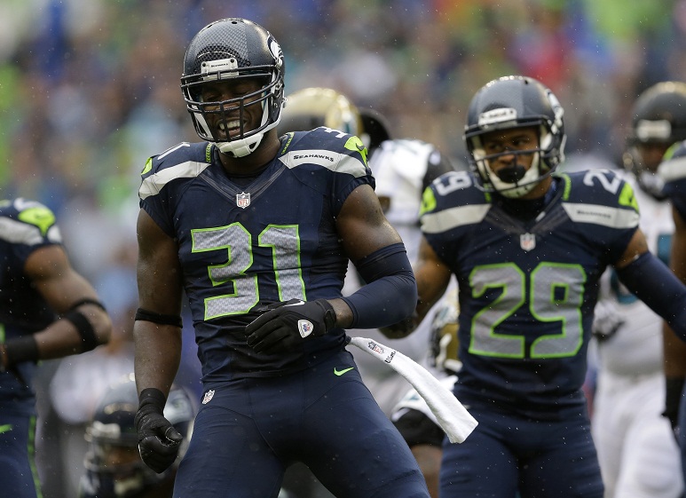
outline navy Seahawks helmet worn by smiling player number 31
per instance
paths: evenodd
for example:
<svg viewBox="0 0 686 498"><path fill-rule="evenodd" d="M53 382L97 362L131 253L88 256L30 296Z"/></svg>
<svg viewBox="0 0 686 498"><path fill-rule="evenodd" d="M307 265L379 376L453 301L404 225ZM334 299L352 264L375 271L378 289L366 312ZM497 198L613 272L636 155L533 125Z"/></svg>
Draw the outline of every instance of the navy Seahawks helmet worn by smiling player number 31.
<svg viewBox="0 0 686 498"><path fill-rule="evenodd" d="M285 69L279 43L255 22L223 19L202 28L185 51L181 77L181 91L198 135L217 143L225 154L242 157L254 152L264 133L279 123ZM203 84L247 78L260 79L262 88L237 99L220 102L201 99ZM243 113L251 106L262 107L262 120L255 130L244 130ZM209 115L217 115L226 130L230 119L238 119L240 132L235 137L217 139L210 129Z"/></svg>

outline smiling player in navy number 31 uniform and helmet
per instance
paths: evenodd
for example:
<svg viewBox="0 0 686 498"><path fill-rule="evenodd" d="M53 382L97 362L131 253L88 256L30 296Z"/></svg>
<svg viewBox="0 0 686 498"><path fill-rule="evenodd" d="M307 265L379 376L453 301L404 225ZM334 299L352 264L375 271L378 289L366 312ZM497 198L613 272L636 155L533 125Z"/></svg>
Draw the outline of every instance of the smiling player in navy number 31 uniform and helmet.
<svg viewBox="0 0 686 498"><path fill-rule="evenodd" d="M427 497L345 349L344 328L413 312L405 247L359 138L279 137L283 78L279 43L249 20L209 24L185 53L183 96L205 141L153 156L139 190L140 455L162 472L182 439L163 407L185 291L204 395L175 496L275 497L304 462L339 497ZM349 259L368 283L343 298Z"/></svg>

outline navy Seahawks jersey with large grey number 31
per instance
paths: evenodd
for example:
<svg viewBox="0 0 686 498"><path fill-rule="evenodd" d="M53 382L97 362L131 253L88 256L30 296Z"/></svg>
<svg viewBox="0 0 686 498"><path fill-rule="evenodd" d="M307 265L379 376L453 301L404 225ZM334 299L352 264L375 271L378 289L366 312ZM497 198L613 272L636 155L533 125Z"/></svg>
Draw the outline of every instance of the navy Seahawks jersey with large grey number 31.
<svg viewBox="0 0 686 498"><path fill-rule="evenodd" d="M256 353L245 326L267 303L341 296L348 258L335 217L349 194L374 186L359 138L319 128L281 138L248 185L229 178L209 143L182 143L148 160L140 205L177 239L206 384L283 375L325 360L343 329L299 351Z"/></svg>

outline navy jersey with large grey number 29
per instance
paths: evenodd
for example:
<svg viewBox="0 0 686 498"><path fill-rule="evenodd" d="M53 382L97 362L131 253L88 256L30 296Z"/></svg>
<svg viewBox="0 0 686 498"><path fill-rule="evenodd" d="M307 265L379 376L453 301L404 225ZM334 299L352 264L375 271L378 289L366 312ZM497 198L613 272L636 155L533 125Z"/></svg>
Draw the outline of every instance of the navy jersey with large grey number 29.
<svg viewBox="0 0 686 498"><path fill-rule="evenodd" d="M526 202L459 171L423 202L422 232L460 290L458 398L540 418L583 402L598 280L638 227L632 187L609 170L561 175L525 217Z"/></svg>

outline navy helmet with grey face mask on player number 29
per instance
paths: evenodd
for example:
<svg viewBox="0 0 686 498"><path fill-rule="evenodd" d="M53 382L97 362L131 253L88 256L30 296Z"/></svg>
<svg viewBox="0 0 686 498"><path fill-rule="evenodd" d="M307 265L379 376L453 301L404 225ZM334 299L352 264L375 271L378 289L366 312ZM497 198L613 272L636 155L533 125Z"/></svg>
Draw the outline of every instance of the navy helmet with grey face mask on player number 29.
<svg viewBox="0 0 686 498"><path fill-rule="evenodd" d="M540 82L526 76L504 76L486 83L469 104L464 140L469 163L487 192L516 198L528 194L564 161L564 109L556 96ZM522 152L507 151L487 156L482 137L493 130L538 127L539 147ZM529 170L496 175L489 161L503 154L534 154Z"/></svg>

